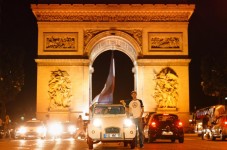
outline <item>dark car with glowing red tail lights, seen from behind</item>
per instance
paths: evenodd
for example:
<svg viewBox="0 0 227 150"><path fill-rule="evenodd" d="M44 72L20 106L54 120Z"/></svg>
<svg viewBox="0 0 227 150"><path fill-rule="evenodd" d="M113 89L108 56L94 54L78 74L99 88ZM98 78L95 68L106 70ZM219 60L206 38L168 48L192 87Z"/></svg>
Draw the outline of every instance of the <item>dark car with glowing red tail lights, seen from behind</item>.
<svg viewBox="0 0 227 150"><path fill-rule="evenodd" d="M144 132L145 140L149 143L154 142L156 139L184 142L183 125L176 114L152 114L144 128Z"/></svg>

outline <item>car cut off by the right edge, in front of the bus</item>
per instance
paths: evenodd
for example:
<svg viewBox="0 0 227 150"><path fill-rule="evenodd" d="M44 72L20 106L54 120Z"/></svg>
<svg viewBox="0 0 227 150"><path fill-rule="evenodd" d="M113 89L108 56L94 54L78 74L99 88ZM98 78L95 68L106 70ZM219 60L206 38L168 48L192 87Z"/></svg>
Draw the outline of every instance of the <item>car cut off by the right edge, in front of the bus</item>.
<svg viewBox="0 0 227 150"><path fill-rule="evenodd" d="M227 138L227 114L221 115L212 124L214 125L211 128L211 139L216 140L216 138L220 138L224 141Z"/></svg>

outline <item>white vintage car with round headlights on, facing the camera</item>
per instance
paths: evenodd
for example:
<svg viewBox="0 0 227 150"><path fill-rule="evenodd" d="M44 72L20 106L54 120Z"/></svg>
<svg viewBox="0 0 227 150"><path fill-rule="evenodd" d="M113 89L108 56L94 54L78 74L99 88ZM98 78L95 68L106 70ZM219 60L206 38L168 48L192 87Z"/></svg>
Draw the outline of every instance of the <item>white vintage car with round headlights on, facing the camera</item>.
<svg viewBox="0 0 227 150"><path fill-rule="evenodd" d="M136 126L122 104L94 104L87 128L89 149L97 142L124 142L135 148Z"/></svg>

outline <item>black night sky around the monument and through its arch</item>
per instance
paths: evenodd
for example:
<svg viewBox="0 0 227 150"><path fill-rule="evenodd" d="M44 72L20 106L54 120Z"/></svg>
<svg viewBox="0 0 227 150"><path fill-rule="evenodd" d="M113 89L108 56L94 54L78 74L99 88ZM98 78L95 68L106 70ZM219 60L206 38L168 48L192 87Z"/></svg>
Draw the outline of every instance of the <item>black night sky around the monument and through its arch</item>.
<svg viewBox="0 0 227 150"><path fill-rule="evenodd" d="M152 0L150 0L152 1ZM149 3L150 1L140 1L140 3ZM157 1L157 0L156 0ZM25 85L17 96L16 100L7 103L7 112L30 111L35 112L36 105L36 63L37 58L37 22L30 9L29 0L1 0L1 30L0 37L3 46L15 49L17 53L25 52ZM81 1L78 1L81 2ZM91 1L89 1L91 3ZM96 1L98 3L101 1ZM111 1L113 3L114 1ZM117 1L116 1L117 2ZM121 3L127 3L119 1ZM118 3L119 3L118 2ZM131 1L132 2L132 1ZM83 1L85 3L85 1ZM108 3L108 1L105 1ZM135 2L136 3L136 2ZM226 0L196 0L194 14L189 21L189 58L190 63L190 109L217 104L217 98L208 97L203 94L200 86L200 61L207 53L219 53L227 50L227 1ZM103 70L103 60L109 57L108 53L101 54L94 62L96 68L94 76L99 76L98 70ZM132 81L133 78L127 78L131 73L132 64L125 54L115 53L117 63L123 63L126 67L116 64L116 72L121 79L116 81L116 99L130 98L129 92L133 84L124 85L121 80ZM101 65L99 65L101 63ZM109 65L106 64L108 72ZM106 78L103 80L105 82ZM100 85L100 89L103 85ZM98 93L99 89L94 91ZM94 96L94 95L93 95Z"/></svg>

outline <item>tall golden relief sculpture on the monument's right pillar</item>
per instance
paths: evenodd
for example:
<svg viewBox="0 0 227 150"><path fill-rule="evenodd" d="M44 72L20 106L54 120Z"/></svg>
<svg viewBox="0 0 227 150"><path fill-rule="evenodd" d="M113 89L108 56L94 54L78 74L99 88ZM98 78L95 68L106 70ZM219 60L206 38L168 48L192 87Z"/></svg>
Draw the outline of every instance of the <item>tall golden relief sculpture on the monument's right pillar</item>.
<svg viewBox="0 0 227 150"><path fill-rule="evenodd" d="M156 74L154 99L157 108L176 108L178 102L178 76L169 67Z"/></svg>

